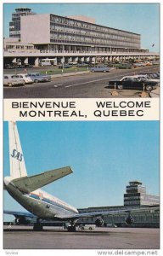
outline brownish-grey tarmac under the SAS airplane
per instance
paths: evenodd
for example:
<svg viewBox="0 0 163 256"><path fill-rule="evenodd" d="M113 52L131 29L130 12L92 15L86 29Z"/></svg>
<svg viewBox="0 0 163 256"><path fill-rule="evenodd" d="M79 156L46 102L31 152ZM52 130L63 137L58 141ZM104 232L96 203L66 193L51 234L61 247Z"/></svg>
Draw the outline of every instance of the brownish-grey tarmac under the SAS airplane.
<svg viewBox="0 0 163 256"><path fill-rule="evenodd" d="M5 227L3 249L159 249L160 230L96 228L67 232L53 227Z"/></svg>

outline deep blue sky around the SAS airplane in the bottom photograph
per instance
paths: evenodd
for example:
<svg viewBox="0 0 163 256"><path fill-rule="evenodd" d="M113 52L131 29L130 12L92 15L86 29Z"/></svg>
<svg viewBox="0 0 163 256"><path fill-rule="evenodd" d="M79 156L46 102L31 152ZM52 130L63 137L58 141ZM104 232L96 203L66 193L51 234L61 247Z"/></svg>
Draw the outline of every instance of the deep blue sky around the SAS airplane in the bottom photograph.
<svg viewBox="0 0 163 256"><path fill-rule="evenodd" d="M73 173L43 189L74 207L123 205L129 181L159 195L158 121L18 122L28 175L71 166ZM4 122L4 176L9 176ZM4 209L22 207L4 192Z"/></svg>

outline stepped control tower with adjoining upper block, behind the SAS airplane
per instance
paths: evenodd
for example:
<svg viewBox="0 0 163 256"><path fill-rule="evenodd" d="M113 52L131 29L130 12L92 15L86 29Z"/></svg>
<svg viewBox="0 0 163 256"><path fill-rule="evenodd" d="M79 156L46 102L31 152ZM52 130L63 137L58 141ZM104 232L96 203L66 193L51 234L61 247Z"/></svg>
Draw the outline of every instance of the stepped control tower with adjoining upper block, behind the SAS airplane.
<svg viewBox="0 0 163 256"><path fill-rule="evenodd" d="M159 205L160 197L146 194L146 187L142 182L132 181L126 186L124 194L124 206L151 206Z"/></svg>

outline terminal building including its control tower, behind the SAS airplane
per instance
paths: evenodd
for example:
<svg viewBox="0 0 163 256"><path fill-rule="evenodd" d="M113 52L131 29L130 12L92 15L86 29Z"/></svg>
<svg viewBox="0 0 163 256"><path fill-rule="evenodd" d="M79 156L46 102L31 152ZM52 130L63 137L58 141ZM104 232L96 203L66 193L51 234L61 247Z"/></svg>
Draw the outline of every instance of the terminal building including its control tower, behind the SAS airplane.
<svg viewBox="0 0 163 256"><path fill-rule="evenodd" d="M129 202L129 203L128 203ZM126 207L138 207L143 208L147 206L159 206L160 197L157 195L146 194L146 188L143 183L139 181L129 182L126 186L126 193L124 194L124 206L115 207L88 207L78 209L79 212L105 212L108 210L121 210ZM134 223L132 226L135 227L159 227L160 226L160 210L149 210L145 212L134 212L131 213ZM104 216L104 225L115 224L117 226L126 226L125 223L126 213L117 215ZM82 219L83 223L94 224L96 218Z"/></svg>

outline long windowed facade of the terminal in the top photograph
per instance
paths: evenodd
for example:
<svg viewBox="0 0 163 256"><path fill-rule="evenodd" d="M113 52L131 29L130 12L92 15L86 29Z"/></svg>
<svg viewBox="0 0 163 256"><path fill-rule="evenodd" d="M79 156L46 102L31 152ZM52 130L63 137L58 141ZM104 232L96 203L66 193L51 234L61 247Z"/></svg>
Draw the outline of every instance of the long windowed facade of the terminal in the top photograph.
<svg viewBox="0 0 163 256"><path fill-rule="evenodd" d="M139 34L50 15L50 42L82 46L140 49Z"/></svg>

